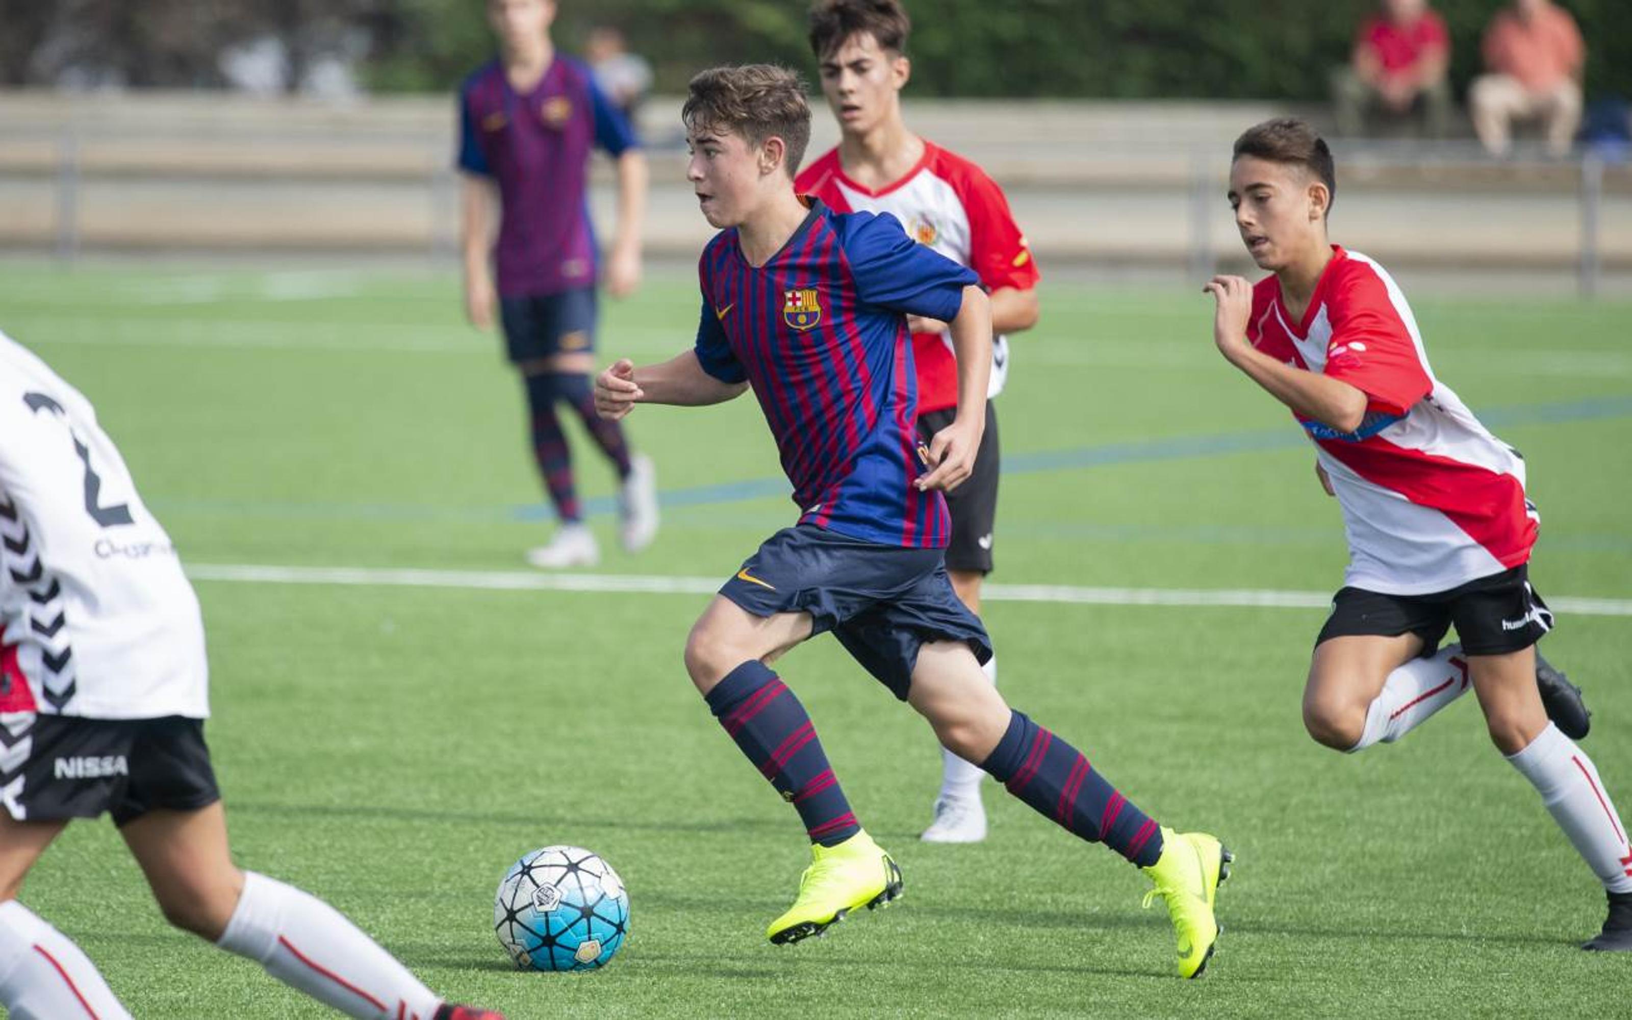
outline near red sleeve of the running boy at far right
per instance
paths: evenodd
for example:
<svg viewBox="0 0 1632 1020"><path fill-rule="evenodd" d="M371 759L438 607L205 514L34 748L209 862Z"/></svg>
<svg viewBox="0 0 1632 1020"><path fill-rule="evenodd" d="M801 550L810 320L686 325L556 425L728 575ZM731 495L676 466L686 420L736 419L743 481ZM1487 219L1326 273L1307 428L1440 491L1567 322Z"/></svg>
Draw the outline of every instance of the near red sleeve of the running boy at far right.
<svg viewBox="0 0 1632 1020"><path fill-rule="evenodd" d="M1327 297L1332 339L1325 374L1366 393L1368 410L1404 415L1433 390L1417 341L1371 266L1343 269Z"/></svg>

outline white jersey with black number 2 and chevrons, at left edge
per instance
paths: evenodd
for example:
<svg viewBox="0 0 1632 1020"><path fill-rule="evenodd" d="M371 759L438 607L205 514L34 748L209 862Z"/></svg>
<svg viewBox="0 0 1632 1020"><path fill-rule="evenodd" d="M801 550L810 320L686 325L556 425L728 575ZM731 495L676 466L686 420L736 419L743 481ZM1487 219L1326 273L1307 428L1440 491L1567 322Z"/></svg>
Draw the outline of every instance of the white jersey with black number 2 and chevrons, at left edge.
<svg viewBox="0 0 1632 1020"><path fill-rule="evenodd" d="M197 597L96 411L0 333L0 716L209 715Z"/></svg>

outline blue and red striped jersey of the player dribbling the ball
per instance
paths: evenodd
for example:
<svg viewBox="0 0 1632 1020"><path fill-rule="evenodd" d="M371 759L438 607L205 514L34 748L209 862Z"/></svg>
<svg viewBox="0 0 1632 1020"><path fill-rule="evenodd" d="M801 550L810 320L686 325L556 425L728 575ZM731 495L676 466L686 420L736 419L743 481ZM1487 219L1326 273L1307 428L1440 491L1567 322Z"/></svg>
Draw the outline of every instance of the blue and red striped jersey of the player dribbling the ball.
<svg viewBox="0 0 1632 1020"><path fill-rule="evenodd" d="M912 481L917 374L906 315L950 322L974 273L893 215L809 215L764 266L721 230L698 263L697 361L754 387L800 522L883 545L945 548L947 501Z"/></svg>

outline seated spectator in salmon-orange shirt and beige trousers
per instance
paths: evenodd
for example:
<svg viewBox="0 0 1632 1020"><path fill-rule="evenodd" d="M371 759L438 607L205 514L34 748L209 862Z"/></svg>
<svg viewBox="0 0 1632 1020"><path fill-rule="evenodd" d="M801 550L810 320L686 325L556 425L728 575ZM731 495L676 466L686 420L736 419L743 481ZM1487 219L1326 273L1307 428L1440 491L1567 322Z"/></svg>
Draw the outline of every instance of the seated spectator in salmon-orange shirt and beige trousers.
<svg viewBox="0 0 1632 1020"><path fill-rule="evenodd" d="M1474 131L1492 155L1513 149L1513 121L1541 119L1547 152L1562 157L1581 122L1586 46L1575 18L1550 0L1513 0L1485 29L1485 67L1467 90Z"/></svg>

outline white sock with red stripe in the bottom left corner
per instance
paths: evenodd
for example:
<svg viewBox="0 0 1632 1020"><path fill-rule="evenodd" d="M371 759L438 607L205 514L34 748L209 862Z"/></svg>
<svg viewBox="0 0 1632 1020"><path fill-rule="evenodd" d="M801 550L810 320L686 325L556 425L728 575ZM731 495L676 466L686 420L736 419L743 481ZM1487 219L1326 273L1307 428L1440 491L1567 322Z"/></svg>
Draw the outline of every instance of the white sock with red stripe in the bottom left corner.
<svg viewBox="0 0 1632 1020"><path fill-rule="evenodd" d="M0 1005L11 1020L131 1020L90 956L15 899L0 902Z"/></svg>

